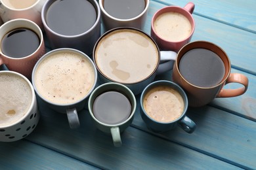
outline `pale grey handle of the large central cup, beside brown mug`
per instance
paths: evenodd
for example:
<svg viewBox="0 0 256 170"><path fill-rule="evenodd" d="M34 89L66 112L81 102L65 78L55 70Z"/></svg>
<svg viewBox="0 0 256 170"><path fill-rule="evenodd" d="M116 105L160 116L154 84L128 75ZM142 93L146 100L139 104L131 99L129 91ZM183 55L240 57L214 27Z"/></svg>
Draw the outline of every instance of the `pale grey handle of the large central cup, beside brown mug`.
<svg viewBox="0 0 256 170"><path fill-rule="evenodd" d="M177 58L177 53L173 51L160 52L160 65L156 70L156 75L160 75L168 70L173 69L173 64Z"/></svg>

